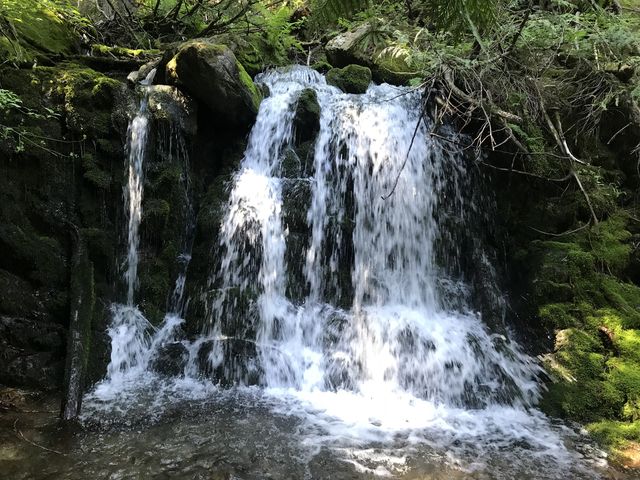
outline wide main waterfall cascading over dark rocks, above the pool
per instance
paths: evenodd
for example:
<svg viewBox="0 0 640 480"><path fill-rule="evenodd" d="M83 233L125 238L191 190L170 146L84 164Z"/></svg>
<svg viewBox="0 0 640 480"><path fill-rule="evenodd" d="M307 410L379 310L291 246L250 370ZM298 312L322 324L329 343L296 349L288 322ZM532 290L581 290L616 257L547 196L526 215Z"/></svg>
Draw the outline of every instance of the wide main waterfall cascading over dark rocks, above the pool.
<svg viewBox="0 0 640 480"><path fill-rule="evenodd" d="M420 95L388 85L345 95L303 68L258 81L271 95L222 223L222 293L212 308L212 335L238 314L226 305L226 292L257 290L255 324L236 334L255 330L266 387L531 405L538 395L535 363L441 287L455 279L437 262L443 226L436 212L446 208L464 224L473 221L467 217L476 206L466 203L463 191L469 159L456 142L429 134L433 125L422 118ZM306 88L316 92L322 112L312 171L285 179L281 162ZM284 190L292 181L308 184L311 196L308 295L297 302L286 292L289 231L283 222ZM345 276L348 281L340 280ZM345 286L348 308L340 305ZM223 362L224 355L211 361Z"/></svg>

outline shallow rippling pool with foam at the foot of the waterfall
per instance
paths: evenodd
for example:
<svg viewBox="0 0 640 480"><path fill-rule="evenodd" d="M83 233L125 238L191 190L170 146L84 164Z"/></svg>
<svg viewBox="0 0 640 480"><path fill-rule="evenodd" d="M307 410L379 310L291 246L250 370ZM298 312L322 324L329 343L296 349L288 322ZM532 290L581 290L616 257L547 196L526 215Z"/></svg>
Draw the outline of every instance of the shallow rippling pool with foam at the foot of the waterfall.
<svg viewBox="0 0 640 480"><path fill-rule="evenodd" d="M295 392L149 386L122 403L87 405L80 424L58 422L57 399L1 415L2 478L631 478L611 469L588 437L541 414L434 411L424 428L394 430L358 412L332 416L332 402L349 406L346 393L322 407Z"/></svg>

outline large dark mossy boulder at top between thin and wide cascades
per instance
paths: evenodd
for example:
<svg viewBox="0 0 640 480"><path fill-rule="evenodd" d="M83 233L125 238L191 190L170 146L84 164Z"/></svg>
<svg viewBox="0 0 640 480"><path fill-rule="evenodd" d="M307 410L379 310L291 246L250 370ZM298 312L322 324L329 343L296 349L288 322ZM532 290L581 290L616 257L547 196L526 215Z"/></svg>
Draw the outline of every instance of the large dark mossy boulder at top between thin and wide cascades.
<svg viewBox="0 0 640 480"><path fill-rule="evenodd" d="M246 127L261 96L244 67L224 45L197 40L182 45L165 69L167 83L206 105L217 123Z"/></svg>

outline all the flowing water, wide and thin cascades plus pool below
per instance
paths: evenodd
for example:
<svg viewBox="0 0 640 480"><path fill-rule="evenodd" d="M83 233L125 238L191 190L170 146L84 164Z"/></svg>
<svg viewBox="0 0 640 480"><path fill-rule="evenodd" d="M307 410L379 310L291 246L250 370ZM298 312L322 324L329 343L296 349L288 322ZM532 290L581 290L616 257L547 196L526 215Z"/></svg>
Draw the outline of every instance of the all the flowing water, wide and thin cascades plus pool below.
<svg viewBox="0 0 640 480"><path fill-rule="evenodd" d="M73 451L93 452L78 459L83 472L606 475L579 429L536 409L537 362L509 339L502 319L482 318L473 288L452 267L469 255L460 232L490 216L490 202L470 193L473 158L461 139L446 129L439 132L449 141L432 136L420 95L407 89L372 85L346 95L303 67L257 81L270 95L233 178L206 328L195 339L176 338L179 312L150 330L134 306L142 107L132 122L129 290L114 309L107 376L84 400L87 431L74 439ZM320 131L309 158L294 158L292 176L284 162L305 89L316 92ZM300 212L304 225L294 232L291 215ZM173 377L150 368L169 343L183 357Z"/></svg>

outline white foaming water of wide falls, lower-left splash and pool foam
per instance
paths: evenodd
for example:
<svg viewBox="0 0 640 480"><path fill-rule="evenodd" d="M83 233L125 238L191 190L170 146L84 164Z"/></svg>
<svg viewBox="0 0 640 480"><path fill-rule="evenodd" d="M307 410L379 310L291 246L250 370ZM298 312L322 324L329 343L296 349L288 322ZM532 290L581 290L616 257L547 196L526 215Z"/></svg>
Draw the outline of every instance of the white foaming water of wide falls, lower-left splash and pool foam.
<svg viewBox="0 0 640 480"><path fill-rule="evenodd" d="M223 366L240 383L243 372L259 375L263 401L303 419L304 445L316 453L333 448L360 471L402 471L419 444L446 452L450 464L468 471L491 462L478 456L505 450L521 451L518 461L531 462L527 471L540 468L540 478L575 464L578 457L564 444L568 431L552 428L535 410L537 363L489 331L468 304L464 282L438 262L437 242L456 239L437 212L446 208L466 225L474 220L469 212L485 206L469 204L470 160L455 142L435 141L427 120L413 138L419 95L388 85L345 95L306 68L258 81L271 93L233 179L208 326L194 342L182 341L189 359L183 376L162 380L166 398L219 394L201 376L199 353L209 342L210 370ZM308 294L294 302L286 294L290 232L283 221L283 185L290 180L279 172L305 88L316 91L322 114L313 172L297 180L311 185L311 199L300 259ZM255 297L247 318L238 292ZM344 298L348 308L340 307ZM148 322L129 308L115 311L107 380L89 396L89 411L118 398L131 402L136 387L155 380L148 366L157 347L176 338L177 316L150 334ZM118 322L120 314L127 320ZM238 323L244 328L229 332ZM230 339L255 345L256 358L229 358ZM552 470L544 473L543 464Z"/></svg>

